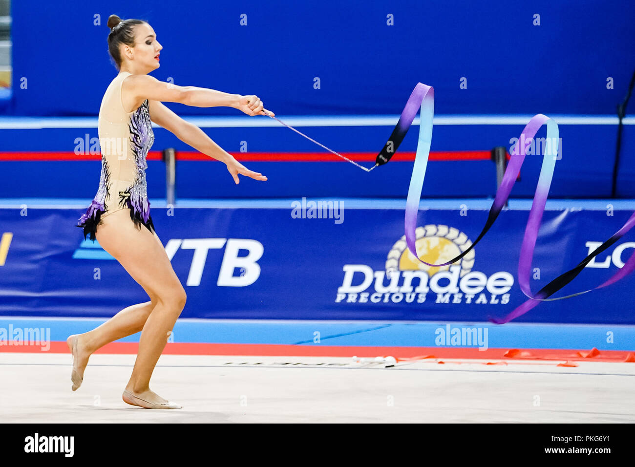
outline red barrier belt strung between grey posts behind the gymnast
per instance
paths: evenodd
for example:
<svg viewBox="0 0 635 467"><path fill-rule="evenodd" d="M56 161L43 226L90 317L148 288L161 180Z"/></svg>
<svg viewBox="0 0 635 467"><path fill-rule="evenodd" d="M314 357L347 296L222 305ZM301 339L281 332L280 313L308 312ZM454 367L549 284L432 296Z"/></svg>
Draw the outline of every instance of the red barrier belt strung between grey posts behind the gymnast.
<svg viewBox="0 0 635 467"><path fill-rule="evenodd" d="M345 162L329 152L237 152L239 161L257 162ZM357 162L375 162L377 152L343 152L343 156ZM0 161L93 161L101 159L100 154L74 154L74 152L0 152ZM161 151L148 152L147 159L160 161ZM205 161L210 158L197 151L177 151L180 161ZM507 154L509 159L509 154ZM394 161L413 161L415 152L398 152ZM433 151L431 161L485 161L491 160L490 151Z"/></svg>

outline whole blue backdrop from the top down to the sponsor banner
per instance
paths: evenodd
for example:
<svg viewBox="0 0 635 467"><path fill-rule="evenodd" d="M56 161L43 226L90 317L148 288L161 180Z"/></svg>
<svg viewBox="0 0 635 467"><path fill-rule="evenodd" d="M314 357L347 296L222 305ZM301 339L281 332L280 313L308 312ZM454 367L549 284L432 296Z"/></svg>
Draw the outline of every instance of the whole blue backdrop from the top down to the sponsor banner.
<svg viewBox="0 0 635 467"><path fill-rule="evenodd" d="M96 116L104 90L117 73L106 42L105 22L112 13L144 18L154 27L164 47L161 67L152 72L156 78L256 93L283 120L294 114L398 114L418 81L434 86L437 115L615 114L633 72L635 3L627 1L187 0L178 6L175 9L174 3L163 0L143 6L123 0L69 0L55 6L42 0L12 2L13 96L0 101L0 112ZM540 15L539 25L535 15ZM315 78L319 89L314 88ZM461 78L467 79L465 89L460 88ZM608 78L612 89L607 88ZM183 116L244 115L222 107L168 105ZM23 129L19 123L11 126L14 122L9 120L6 126L4 121L0 119L5 128L0 132L0 152L70 152L77 137L85 133L97 137L96 128L81 125ZM436 126L432 151L509 147L509 139L518 137L521 128ZM635 197L632 128L624 128L618 197ZM390 130L302 128L340 152L378 151ZM415 149L417 130L411 130L402 151ZM238 159L243 140L249 142L250 152L322 151L282 126L205 131ZM616 133L615 125L561 125L563 160L551 196L612 196ZM157 129L153 149L165 147L192 150ZM222 167L183 161L178 165L177 194L186 198L399 197L405 195L410 164L399 165L398 160L396 156L394 165L373 174L377 177L372 180L354 176L352 166L336 171L330 163L246 163L266 173L269 182L246 181L239 187ZM2 164L0 198L90 199L97 191L99 155L91 162L39 161L37 170L29 157L9 158ZM164 196L163 166L150 162L149 171L150 196ZM531 196L535 173L535 164L523 168L514 196ZM59 184L62 178L69 181ZM491 196L494 188L493 165L487 161L436 162L424 196Z"/></svg>

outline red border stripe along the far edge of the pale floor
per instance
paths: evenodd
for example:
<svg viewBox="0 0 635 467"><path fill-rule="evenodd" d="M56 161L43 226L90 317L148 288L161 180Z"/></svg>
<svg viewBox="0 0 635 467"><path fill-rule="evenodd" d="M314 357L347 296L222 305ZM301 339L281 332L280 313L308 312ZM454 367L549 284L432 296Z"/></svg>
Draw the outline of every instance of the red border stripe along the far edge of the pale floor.
<svg viewBox="0 0 635 467"><path fill-rule="evenodd" d="M95 353L136 354L138 342L110 342ZM48 350L41 345L0 346L0 353L70 353L66 342L51 342ZM496 359L496 360L573 360L580 362L635 362L635 353L617 350L570 349L486 349L444 347L371 347L371 346L312 346L288 344L210 344L168 342L165 355L242 355L242 356L330 356L376 357L394 356L403 360L438 358Z"/></svg>

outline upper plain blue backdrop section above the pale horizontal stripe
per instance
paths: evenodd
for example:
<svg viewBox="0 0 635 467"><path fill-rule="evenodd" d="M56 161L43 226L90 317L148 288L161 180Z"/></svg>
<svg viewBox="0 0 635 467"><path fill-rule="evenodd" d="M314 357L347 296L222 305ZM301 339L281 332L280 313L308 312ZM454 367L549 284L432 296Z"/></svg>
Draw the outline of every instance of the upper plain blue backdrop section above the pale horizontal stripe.
<svg viewBox="0 0 635 467"><path fill-rule="evenodd" d="M255 93L279 115L394 114L418 81L434 86L439 114L615 114L635 50L635 4L624 0L20 0L11 9L14 93L4 111L23 115L97 114L117 74L106 41L113 13L154 27L157 79Z"/></svg>

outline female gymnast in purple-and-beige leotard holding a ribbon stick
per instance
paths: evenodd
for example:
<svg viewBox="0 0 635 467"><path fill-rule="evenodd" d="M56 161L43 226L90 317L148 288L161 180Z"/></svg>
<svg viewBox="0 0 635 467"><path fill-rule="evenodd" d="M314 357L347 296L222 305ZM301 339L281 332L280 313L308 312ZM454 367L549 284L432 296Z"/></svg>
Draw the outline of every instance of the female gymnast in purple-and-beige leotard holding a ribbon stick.
<svg viewBox="0 0 635 467"><path fill-rule="evenodd" d="M72 390L81 386L93 352L108 342L141 331L135 367L122 395L124 402L145 409L181 409L149 387L154 367L186 298L150 217L145 158L154 142L151 122L174 133L197 151L224 162L237 184L238 174L255 180L267 177L243 166L200 128L178 117L161 101L194 107L224 105L249 116L274 114L264 109L255 95L177 86L148 76L159 68L159 51L163 49L154 29L143 20L121 20L117 15L110 15L108 27L109 52L119 74L106 89L99 109L102 171L97 196L77 227L83 228L84 240L86 236L93 241L97 239L119 261L144 288L150 301L124 308L90 332L69 336Z"/></svg>

